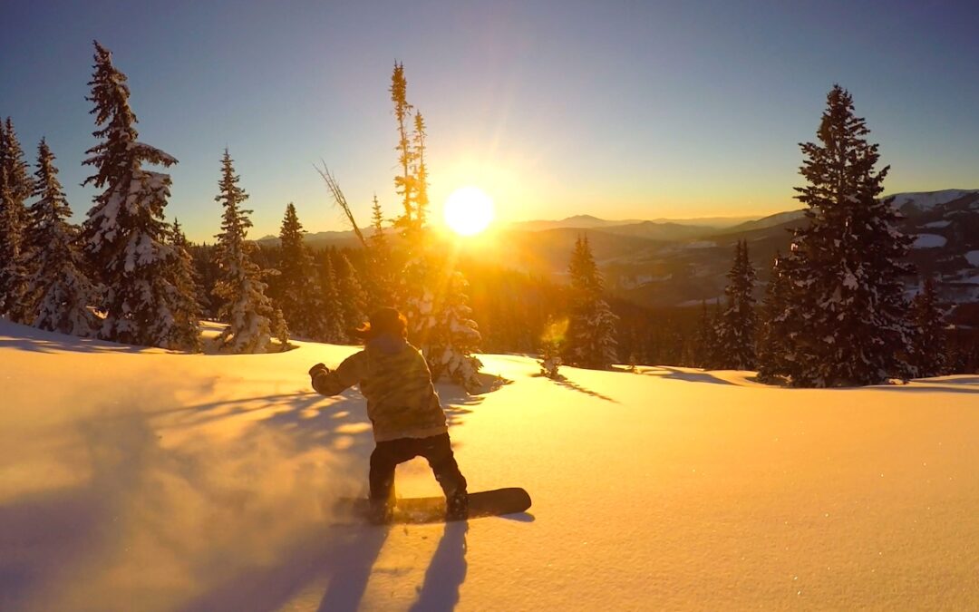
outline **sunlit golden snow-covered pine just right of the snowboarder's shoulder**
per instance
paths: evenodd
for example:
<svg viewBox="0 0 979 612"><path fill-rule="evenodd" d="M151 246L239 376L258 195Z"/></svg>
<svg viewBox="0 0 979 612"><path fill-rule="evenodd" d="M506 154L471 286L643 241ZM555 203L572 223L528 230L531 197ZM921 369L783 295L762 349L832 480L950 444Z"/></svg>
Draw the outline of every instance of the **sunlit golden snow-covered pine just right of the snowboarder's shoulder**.
<svg viewBox="0 0 979 612"><path fill-rule="evenodd" d="M472 320L472 308L468 305L468 283L461 272L452 272L446 279L435 309L435 325L432 327L422 353L432 370L432 379L442 374L466 391L480 388L478 377L483 362L473 353L479 350L480 332Z"/></svg>

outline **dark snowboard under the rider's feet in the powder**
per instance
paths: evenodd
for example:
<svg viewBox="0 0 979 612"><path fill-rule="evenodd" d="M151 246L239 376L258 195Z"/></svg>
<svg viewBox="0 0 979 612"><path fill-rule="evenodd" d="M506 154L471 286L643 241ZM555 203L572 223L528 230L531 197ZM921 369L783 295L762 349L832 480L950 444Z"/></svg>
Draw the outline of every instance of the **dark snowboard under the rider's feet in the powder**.
<svg viewBox="0 0 979 612"><path fill-rule="evenodd" d="M363 497L342 497L338 509L367 521L369 502ZM469 518L517 514L531 507L531 495L518 487L469 494ZM401 497L395 504L391 523L443 523L445 497Z"/></svg>

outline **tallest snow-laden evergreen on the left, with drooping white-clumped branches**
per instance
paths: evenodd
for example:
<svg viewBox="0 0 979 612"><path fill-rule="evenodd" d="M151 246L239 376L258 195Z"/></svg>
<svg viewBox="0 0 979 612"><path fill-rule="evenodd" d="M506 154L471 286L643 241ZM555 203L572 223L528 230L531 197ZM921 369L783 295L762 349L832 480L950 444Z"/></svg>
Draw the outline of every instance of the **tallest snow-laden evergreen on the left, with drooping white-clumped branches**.
<svg viewBox="0 0 979 612"><path fill-rule="evenodd" d="M179 255L165 243L169 226L163 219L170 177L142 166L177 161L137 140L125 74L98 42L93 68L87 100L94 104L91 113L100 128L92 135L99 142L86 152L83 164L96 171L83 184L103 191L82 225L82 244L106 290L99 335L126 344L176 348L171 344L178 316L172 272Z"/></svg>

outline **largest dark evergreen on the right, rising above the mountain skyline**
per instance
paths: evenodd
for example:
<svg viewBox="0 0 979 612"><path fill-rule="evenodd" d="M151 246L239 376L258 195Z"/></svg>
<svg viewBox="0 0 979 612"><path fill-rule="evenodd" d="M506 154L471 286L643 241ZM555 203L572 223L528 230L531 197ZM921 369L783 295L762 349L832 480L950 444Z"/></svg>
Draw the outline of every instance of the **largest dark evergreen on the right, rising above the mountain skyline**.
<svg viewBox="0 0 979 612"><path fill-rule="evenodd" d="M786 372L796 386L835 387L907 377L910 330L902 262L910 240L896 228L893 199L881 199L889 166L875 171L877 145L839 85L827 95L816 136L801 145L809 206L789 259L795 325Z"/></svg>

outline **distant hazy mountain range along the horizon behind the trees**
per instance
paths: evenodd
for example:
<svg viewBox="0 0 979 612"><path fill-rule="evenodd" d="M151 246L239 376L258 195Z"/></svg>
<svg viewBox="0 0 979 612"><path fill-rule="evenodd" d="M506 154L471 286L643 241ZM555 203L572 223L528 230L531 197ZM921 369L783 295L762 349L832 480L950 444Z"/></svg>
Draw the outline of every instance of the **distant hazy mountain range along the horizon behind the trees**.
<svg viewBox="0 0 979 612"><path fill-rule="evenodd" d="M905 216L900 229L915 237L909 259L919 273L935 275L949 302L979 301L979 190L899 193L894 206ZM586 235L610 291L645 306L692 306L723 295L738 240L748 241L759 279L767 280L771 259L789 247L788 230L804 224L804 217L798 210L762 218L609 220L581 214L522 221L496 230L500 251L489 257L560 278L575 240ZM349 231L316 232L305 240L313 248L357 246ZM266 236L258 242L277 241ZM463 243L463 250L468 248ZM470 255L488 259L477 248L485 247L473 247Z"/></svg>

